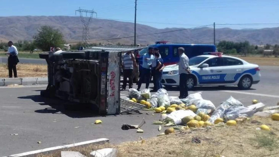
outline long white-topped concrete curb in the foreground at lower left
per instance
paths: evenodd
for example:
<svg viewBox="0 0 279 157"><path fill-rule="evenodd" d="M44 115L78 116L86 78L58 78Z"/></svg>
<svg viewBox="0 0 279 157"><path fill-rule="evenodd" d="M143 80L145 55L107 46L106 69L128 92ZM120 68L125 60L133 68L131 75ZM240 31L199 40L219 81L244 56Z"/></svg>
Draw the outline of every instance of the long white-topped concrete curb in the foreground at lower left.
<svg viewBox="0 0 279 157"><path fill-rule="evenodd" d="M91 141L79 142L79 143L75 143L75 144L68 144L65 146L56 146L56 147L50 147L50 148L40 149L40 150L36 150L36 151L29 151L29 152L20 153L20 154L14 154L14 155L10 155L8 157L35 157L37 154L44 154L44 155L50 154L50 153L54 153L56 151L61 151L62 149L65 149L65 148L72 148L72 147L76 147L76 146L84 147L89 144L105 144L105 143L109 143L109 139L100 138L100 139L95 139L95 140L91 140Z"/></svg>

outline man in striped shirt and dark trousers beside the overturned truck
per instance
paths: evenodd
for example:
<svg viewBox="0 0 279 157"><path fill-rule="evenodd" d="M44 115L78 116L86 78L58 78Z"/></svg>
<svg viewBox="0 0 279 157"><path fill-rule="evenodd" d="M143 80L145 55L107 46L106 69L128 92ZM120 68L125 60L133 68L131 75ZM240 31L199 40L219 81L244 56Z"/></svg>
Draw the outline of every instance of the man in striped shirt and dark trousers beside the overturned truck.
<svg viewBox="0 0 279 157"><path fill-rule="evenodd" d="M129 78L129 88L133 88L133 69L137 67L134 54L129 51L122 55L123 65L123 86L122 90L126 90L127 78Z"/></svg>

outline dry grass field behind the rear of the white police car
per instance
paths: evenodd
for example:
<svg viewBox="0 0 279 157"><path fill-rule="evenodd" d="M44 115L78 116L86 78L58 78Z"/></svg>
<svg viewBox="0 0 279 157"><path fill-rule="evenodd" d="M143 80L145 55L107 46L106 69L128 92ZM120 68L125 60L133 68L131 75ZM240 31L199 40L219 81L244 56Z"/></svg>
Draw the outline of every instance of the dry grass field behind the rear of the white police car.
<svg viewBox="0 0 279 157"><path fill-rule="evenodd" d="M239 57L249 63L258 64L259 66L279 66L279 57L261 57L261 56L247 56Z"/></svg>

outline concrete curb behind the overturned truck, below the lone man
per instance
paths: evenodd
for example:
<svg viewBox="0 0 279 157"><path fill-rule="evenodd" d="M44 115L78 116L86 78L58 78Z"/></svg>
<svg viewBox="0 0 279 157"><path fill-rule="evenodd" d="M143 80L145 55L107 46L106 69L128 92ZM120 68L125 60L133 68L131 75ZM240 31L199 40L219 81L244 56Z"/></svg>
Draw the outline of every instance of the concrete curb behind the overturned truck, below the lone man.
<svg viewBox="0 0 279 157"><path fill-rule="evenodd" d="M42 78L0 78L0 86L8 86L11 84L33 85L48 84L47 77Z"/></svg>

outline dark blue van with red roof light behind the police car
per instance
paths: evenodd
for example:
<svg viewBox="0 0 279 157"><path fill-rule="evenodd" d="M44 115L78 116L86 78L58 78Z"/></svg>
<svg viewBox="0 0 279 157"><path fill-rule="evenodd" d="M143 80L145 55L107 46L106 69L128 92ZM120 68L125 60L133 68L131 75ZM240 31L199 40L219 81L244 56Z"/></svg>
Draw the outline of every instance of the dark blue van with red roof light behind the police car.
<svg viewBox="0 0 279 157"><path fill-rule="evenodd" d="M179 62L178 48L183 47L185 49L186 55L189 58L203 55L204 52L217 52L215 45L206 44L167 44L167 41L155 42L154 45L149 45L148 47L157 47L159 49L160 55L164 61L165 66L176 64ZM148 47L142 49L139 52L139 69L142 68L142 57L148 52Z"/></svg>

